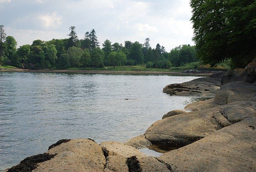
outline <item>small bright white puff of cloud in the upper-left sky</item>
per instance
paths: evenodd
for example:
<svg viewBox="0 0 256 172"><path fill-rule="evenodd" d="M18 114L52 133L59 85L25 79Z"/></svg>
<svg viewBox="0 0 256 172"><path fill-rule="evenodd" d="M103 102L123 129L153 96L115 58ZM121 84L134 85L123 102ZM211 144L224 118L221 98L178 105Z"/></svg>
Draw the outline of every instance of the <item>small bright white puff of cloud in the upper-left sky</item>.
<svg viewBox="0 0 256 172"><path fill-rule="evenodd" d="M62 23L62 16L57 16L56 12L53 12L51 15L40 16L40 19L42 20L42 24L45 28L56 28Z"/></svg>

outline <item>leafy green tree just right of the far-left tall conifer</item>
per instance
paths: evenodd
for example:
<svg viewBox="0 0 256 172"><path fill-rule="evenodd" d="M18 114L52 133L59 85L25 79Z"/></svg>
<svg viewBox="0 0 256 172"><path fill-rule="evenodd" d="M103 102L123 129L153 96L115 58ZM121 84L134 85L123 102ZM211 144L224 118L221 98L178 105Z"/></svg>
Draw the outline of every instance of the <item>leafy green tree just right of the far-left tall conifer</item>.
<svg viewBox="0 0 256 172"><path fill-rule="evenodd" d="M18 56L17 56L17 42L12 36L7 36L5 40L6 44L6 57L11 60L12 64L17 66Z"/></svg>

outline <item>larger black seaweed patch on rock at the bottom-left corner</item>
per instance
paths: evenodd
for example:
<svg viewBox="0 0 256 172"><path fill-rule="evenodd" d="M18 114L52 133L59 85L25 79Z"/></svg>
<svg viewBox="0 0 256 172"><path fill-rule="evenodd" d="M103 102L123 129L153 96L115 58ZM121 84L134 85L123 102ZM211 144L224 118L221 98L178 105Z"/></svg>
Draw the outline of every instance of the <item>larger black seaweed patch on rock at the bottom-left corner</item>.
<svg viewBox="0 0 256 172"><path fill-rule="evenodd" d="M7 172L32 172L32 170L34 170L38 166L38 163L50 160L55 155L56 154L50 155L44 153L30 156L22 160L20 164L10 168Z"/></svg>

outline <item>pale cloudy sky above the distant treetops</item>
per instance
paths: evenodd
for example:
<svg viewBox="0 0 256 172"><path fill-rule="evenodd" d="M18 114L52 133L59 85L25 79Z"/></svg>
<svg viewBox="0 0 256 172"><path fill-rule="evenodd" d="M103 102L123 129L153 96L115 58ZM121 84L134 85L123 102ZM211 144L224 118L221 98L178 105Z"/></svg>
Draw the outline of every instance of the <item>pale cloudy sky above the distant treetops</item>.
<svg viewBox="0 0 256 172"><path fill-rule="evenodd" d="M76 26L78 38L94 29L100 44L108 39L159 43L169 52L194 45L190 0L0 0L0 24L18 46L33 40L68 38Z"/></svg>

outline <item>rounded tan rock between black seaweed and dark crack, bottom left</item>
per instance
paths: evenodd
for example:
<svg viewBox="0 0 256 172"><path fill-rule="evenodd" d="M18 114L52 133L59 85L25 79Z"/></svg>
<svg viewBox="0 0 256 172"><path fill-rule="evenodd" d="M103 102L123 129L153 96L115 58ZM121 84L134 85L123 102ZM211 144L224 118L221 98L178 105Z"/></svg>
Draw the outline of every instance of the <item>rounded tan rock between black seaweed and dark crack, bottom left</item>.
<svg viewBox="0 0 256 172"><path fill-rule="evenodd" d="M46 153L57 155L40 163L33 172L102 172L106 163L102 148L88 139L70 140Z"/></svg>

